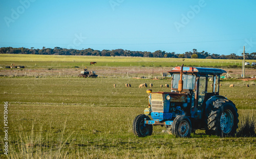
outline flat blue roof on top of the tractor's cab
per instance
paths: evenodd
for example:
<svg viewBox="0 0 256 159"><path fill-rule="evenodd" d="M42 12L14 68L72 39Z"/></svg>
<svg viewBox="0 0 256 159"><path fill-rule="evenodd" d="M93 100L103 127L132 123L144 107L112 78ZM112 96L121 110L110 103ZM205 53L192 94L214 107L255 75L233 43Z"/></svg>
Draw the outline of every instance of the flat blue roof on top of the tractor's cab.
<svg viewBox="0 0 256 159"><path fill-rule="evenodd" d="M168 73L180 73L181 66L174 67ZM207 74L207 75L221 75L226 73L225 70L222 69L214 69L214 68L202 68L202 67L183 67L183 73L193 73L193 74Z"/></svg>

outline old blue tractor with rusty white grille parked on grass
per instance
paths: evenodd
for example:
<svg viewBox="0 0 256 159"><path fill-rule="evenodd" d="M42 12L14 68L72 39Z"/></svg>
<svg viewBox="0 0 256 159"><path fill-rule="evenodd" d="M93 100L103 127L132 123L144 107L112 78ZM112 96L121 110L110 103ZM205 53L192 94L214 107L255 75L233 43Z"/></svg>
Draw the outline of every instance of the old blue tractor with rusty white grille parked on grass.
<svg viewBox="0 0 256 159"><path fill-rule="evenodd" d="M222 69L176 66L170 92L152 93L147 89L148 107L133 122L133 132L146 137L153 125L166 127L176 137L190 137L197 129L219 137L233 137L238 128L238 110L226 97L219 95ZM151 118L150 118L151 116Z"/></svg>

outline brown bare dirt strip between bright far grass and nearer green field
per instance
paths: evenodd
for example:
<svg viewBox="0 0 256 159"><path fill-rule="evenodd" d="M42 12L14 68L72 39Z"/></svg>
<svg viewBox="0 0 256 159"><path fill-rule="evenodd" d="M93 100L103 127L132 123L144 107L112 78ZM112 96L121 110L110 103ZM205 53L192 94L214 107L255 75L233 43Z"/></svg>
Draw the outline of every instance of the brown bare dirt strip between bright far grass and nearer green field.
<svg viewBox="0 0 256 159"><path fill-rule="evenodd" d="M155 78L160 77L161 73L167 73L173 67L109 67L109 66L91 66L89 71L95 71L98 77L136 77L136 78ZM80 68L38 68L38 69L0 69L0 76L32 76L32 77L77 77L84 67ZM241 77L241 69L224 69L231 77ZM167 74L169 75L169 74ZM222 76L225 76L223 74ZM255 69L246 69L245 75L252 77L255 75ZM247 78L246 78L247 79ZM249 79L249 78L248 78ZM253 79L250 79L253 80Z"/></svg>

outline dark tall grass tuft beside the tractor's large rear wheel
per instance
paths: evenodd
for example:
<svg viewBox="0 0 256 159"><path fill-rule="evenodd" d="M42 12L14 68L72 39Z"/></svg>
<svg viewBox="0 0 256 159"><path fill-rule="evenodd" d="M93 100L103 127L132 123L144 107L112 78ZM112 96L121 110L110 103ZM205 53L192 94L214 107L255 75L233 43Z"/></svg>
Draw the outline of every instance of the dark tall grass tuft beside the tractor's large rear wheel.
<svg viewBox="0 0 256 159"><path fill-rule="evenodd" d="M240 119L240 126L237 137L256 137L256 117L252 115L244 115Z"/></svg>

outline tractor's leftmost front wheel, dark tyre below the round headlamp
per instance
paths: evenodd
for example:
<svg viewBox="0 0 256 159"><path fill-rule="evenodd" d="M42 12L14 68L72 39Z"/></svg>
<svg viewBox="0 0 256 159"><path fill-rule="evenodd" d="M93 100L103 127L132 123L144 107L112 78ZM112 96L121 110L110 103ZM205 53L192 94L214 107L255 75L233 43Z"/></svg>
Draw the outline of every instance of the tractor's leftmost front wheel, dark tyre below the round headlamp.
<svg viewBox="0 0 256 159"><path fill-rule="evenodd" d="M144 119L150 120L150 117L146 115L138 115L133 121L133 133L137 137L146 137L153 132L153 126L144 124Z"/></svg>

